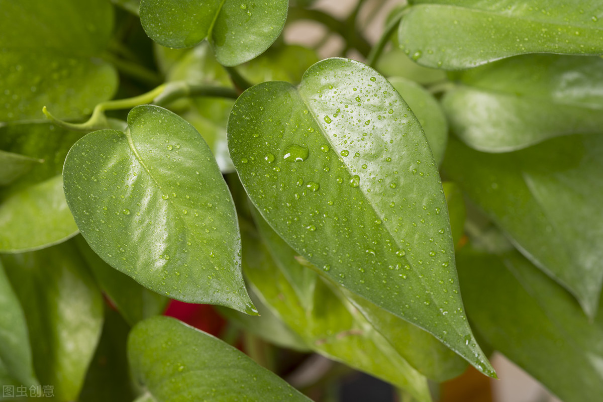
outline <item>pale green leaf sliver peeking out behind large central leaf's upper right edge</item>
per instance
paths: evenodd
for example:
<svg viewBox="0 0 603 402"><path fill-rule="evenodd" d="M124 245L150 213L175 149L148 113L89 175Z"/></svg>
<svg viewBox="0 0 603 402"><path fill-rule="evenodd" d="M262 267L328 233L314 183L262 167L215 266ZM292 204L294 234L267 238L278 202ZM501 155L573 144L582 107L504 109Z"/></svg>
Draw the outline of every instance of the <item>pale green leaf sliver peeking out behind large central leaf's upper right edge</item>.
<svg viewBox="0 0 603 402"><path fill-rule="evenodd" d="M400 96L417 116L429 142L435 162L438 165L444 158L448 141L448 124L440 103L423 87L402 77L391 77L388 81L400 93Z"/></svg>

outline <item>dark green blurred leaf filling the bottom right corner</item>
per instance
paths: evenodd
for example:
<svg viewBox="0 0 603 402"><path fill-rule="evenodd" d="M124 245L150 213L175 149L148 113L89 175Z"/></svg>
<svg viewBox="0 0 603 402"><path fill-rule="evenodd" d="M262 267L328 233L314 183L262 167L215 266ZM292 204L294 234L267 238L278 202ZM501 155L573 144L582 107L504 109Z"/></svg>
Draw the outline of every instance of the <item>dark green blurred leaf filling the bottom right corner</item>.
<svg viewBox="0 0 603 402"><path fill-rule="evenodd" d="M519 253L457 255L467 315L488 344L566 402L603 394L603 327Z"/></svg>

